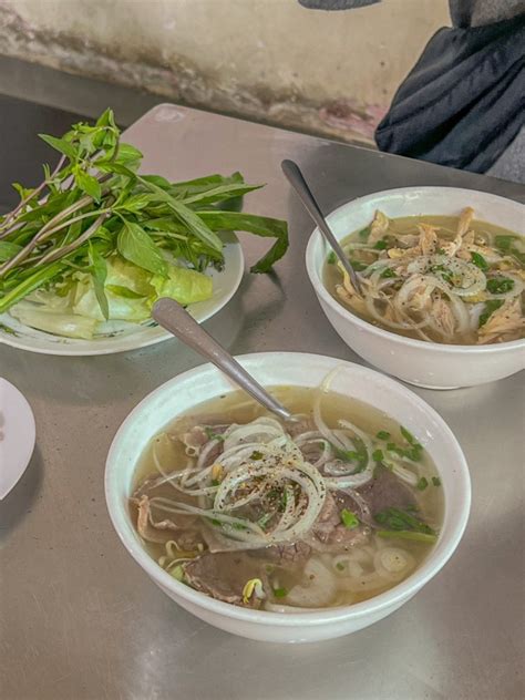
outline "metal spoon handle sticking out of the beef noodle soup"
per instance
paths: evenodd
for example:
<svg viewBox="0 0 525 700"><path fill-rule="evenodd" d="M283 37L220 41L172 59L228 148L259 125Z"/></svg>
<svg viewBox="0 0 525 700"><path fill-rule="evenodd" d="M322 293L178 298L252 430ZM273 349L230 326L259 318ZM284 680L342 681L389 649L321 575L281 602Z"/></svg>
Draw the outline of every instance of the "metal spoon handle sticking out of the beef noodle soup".
<svg viewBox="0 0 525 700"><path fill-rule="evenodd" d="M192 350L213 362L265 409L286 421L297 420L174 299L158 299L153 305L152 316L157 323L185 342Z"/></svg>

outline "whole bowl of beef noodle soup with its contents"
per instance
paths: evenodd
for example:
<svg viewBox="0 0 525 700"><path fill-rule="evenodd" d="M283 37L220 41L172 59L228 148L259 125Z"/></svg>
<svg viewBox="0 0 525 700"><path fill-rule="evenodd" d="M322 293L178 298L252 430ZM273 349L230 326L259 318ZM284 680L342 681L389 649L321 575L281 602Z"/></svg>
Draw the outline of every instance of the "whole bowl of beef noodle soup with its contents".
<svg viewBox="0 0 525 700"><path fill-rule="evenodd" d="M457 546L462 451L426 403L373 370L301 353L239 360L294 420L210 364L168 381L111 446L113 525L153 581L220 629L316 641L367 627Z"/></svg>

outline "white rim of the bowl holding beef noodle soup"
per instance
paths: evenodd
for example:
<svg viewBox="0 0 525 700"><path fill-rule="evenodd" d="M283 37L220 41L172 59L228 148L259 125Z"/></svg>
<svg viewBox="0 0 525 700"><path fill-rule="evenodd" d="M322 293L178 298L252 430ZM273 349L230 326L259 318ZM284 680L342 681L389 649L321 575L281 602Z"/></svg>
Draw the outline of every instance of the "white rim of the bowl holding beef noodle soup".
<svg viewBox="0 0 525 700"><path fill-rule="evenodd" d="M246 624L261 624L266 626L277 626L277 627L301 627L303 625L310 626L319 626L329 622L337 622L349 619L358 619L362 617L367 617L370 615L374 615L385 608L391 608L397 605L402 605L412 595L418 593L429 580L431 580L446 564L450 559L454 550L457 548L457 545L463 536L463 533L466 527L466 523L470 515L471 508L471 478L469 466L466 463L465 455L461 449L461 445L455 437L452 430L449 428L446 422L441 418L441 415L423 399L421 399L413 391L401 384L400 382L391 379L378 372L375 370L362 367L361 364L357 364L354 362L348 362L346 360L340 360L338 358L330 358L328 356L315 354L315 353L306 353L306 352L286 352L286 351L277 351L277 352L254 352L247 354L236 356L236 360L241 364L250 363L253 361L260 360L265 358L266 361L272 363L275 361L282 362L284 356L290 361L298 361L299 359L305 361L319 362L325 361L327 364L333 367L336 363L346 366L348 369L352 371L359 371L364 375L369 375L374 379L380 379L387 387L391 388L397 392L400 401L409 401L412 404L415 404L418 408L422 409L423 412L428 415L429 419L432 419L434 425L439 425L442 436L445 437L445 442L449 443L449 446L453 450L456 457L456 478L457 485L456 487L463 492L463 500L461 504L461 508L457 508L457 513L454 517L454 521L450 525L450 533L446 541L441 538L437 539L437 543L434 549L429 554L429 556L424 559L422 565L415 569L408 578L405 578L400 584L397 584L389 590L381 593L368 600L362 603L357 603L348 606L340 606L337 608L326 608L322 610L316 609L311 612L300 611L296 615L294 614L285 614L285 612L274 612L270 610L253 610L249 608L243 608L229 603L224 603L222 600L216 600L204 593L195 590L194 588L177 581L175 578L169 576L164 569L162 569L158 564L147 554L145 548L136 541L134 536L127 534L130 529L130 514L127 511L127 505L121 502L120 496L116 493L116 474L119 471L119 461L114 459L114 454L117 452L120 443L123 440L123 435L126 432L126 429L130 424L136 422L137 418L141 415L144 408L156 398L162 395L165 392L173 391L177 383L181 381L185 381L192 379L203 372L212 372L220 373L218 369L216 369L212 363L199 364L196 368L187 370L173 379L168 380L161 384L157 389L148 393L124 419L122 424L120 425L117 432L115 433L113 441L111 443L106 464L105 464L105 475L104 475L104 491L105 491L105 500L106 507L110 514L110 518L112 521L113 527L115 528L119 538L121 539L124 547L127 549L128 554L135 559L135 562L145 570L145 573L156 583L161 588L168 589L173 593L176 598L183 598L191 605L194 605L198 608L205 609L208 612L217 615L219 617L226 617L229 619L238 620L239 622ZM198 403L198 402L196 402ZM187 411L186 409L185 411ZM176 416L176 414L175 414ZM174 418L175 418L174 416ZM153 435L151 436L153 437ZM446 517L446 503L445 503L445 517ZM442 544L442 549L440 550L439 556L435 556L435 552L437 545Z"/></svg>

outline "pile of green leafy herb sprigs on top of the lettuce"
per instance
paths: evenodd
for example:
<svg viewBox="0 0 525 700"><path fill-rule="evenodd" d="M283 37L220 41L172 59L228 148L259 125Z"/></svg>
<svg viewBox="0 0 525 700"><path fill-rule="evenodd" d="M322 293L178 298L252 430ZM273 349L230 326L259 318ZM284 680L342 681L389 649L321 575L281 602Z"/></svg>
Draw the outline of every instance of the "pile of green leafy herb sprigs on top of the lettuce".
<svg viewBox="0 0 525 700"><path fill-rule="evenodd" d="M61 157L53 171L44 165L38 187L14 184L20 203L0 217L0 313L82 271L107 318L105 260L114 255L165 277L177 260L197 271L220 269L224 231L276 239L253 272L269 271L288 248L286 222L233 210L261 186L240 173L181 183L140 175L142 153L121 142L111 110L61 138L41 137Z"/></svg>

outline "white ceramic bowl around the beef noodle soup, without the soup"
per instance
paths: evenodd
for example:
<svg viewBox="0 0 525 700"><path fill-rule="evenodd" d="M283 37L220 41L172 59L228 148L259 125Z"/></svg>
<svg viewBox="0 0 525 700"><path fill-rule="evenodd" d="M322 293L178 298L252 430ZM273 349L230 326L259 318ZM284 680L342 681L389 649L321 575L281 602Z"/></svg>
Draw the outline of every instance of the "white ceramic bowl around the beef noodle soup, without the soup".
<svg viewBox="0 0 525 700"><path fill-rule="evenodd" d="M133 527L127 498L137 460L150 440L195 404L231 391L210 364L166 382L127 416L116 433L106 462L105 495L113 525L127 552L171 598L200 619L235 635L264 641L319 641L357 631L406 603L444 566L456 548L469 517L471 484L465 457L451 430L424 401L398 382L350 362L297 352L268 352L237 358L265 385L317 387L334 367L343 367L338 391L378 406L421 440L440 472L445 514L440 538L409 578L370 600L353 606L295 615L235 607L178 583L145 552Z"/></svg>

